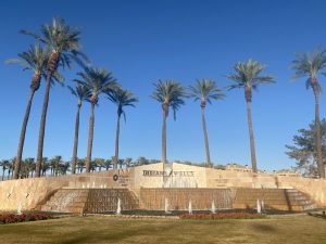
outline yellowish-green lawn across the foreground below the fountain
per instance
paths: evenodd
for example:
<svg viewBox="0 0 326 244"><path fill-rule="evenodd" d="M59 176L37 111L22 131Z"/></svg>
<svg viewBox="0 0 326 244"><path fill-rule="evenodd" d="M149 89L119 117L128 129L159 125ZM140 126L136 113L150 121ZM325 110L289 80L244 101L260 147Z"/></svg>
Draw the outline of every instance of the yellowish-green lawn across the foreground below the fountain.
<svg viewBox="0 0 326 244"><path fill-rule="evenodd" d="M326 243L326 220L180 220L66 217L0 226L0 243Z"/></svg>

